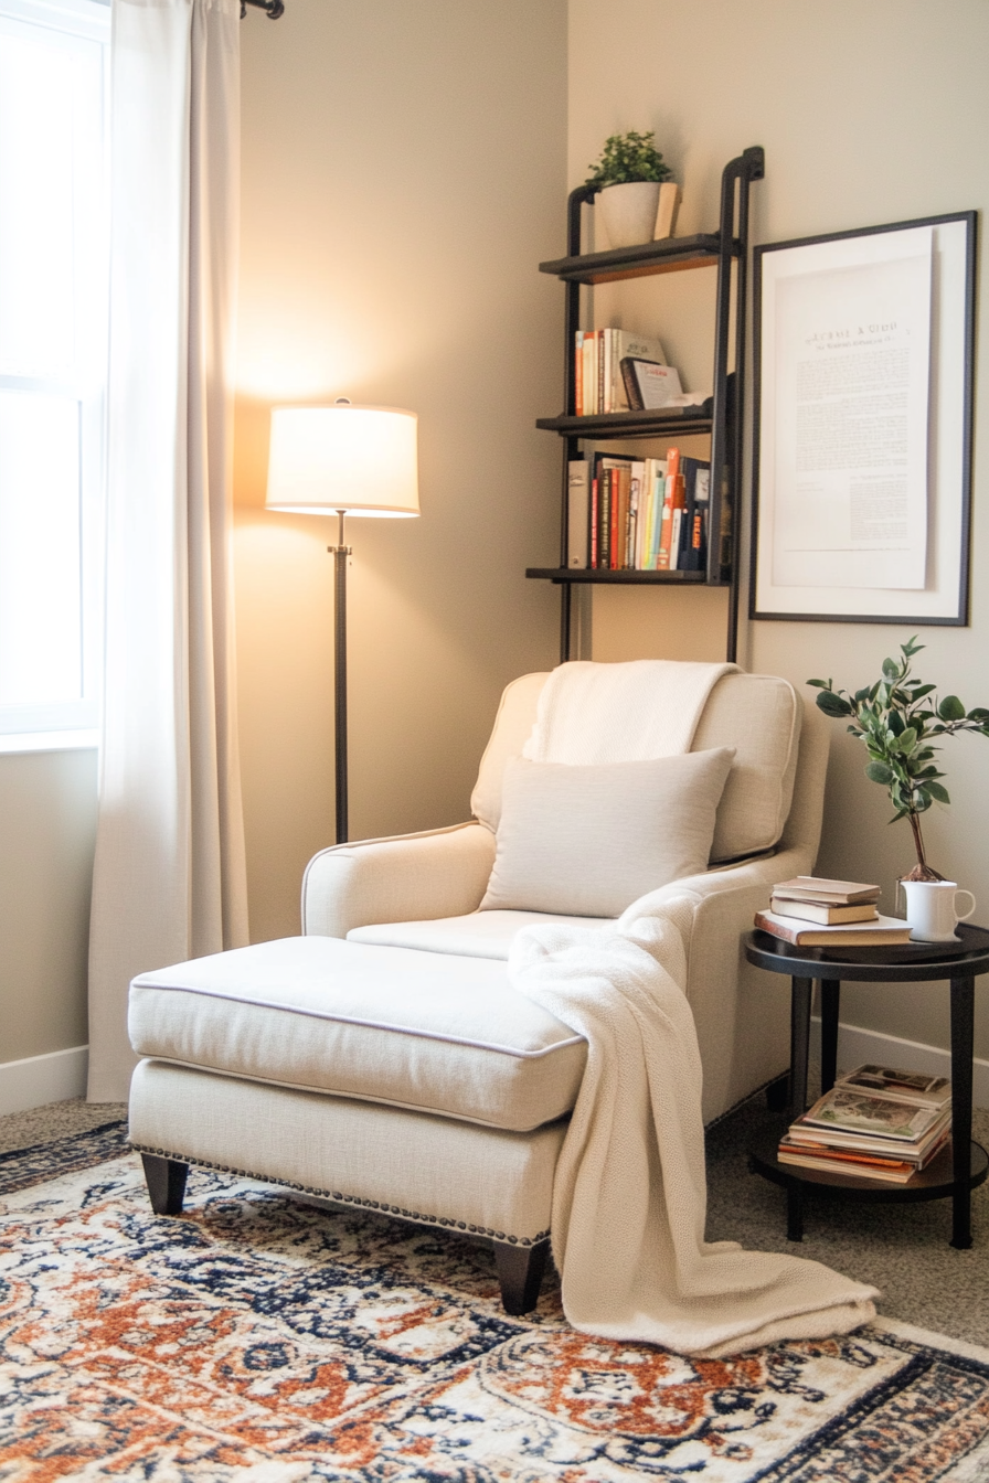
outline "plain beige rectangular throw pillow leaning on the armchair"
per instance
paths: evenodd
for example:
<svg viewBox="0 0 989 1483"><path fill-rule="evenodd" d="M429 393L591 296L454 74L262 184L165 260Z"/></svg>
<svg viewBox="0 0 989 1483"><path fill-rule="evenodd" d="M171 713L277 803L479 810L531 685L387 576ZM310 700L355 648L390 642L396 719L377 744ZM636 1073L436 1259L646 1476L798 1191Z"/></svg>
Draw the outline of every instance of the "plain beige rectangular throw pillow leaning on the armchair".
<svg viewBox="0 0 989 1483"><path fill-rule="evenodd" d="M707 869L734 747L652 762L506 762L495 863L480 911L620 916Z"/></svg>

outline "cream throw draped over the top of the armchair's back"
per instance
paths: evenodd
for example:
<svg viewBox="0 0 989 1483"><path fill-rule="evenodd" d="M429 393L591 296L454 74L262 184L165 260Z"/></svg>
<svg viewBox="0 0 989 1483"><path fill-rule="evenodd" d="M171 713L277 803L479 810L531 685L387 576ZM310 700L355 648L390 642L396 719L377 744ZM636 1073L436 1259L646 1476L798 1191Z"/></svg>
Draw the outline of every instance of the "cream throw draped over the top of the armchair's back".
<svg viewBox="0 0 989 1483"><path fill-rule="evenodd" d="M590 767L689 752L707 697L737 667L666 658L560 664L540 693L522 756Z"/></svg>

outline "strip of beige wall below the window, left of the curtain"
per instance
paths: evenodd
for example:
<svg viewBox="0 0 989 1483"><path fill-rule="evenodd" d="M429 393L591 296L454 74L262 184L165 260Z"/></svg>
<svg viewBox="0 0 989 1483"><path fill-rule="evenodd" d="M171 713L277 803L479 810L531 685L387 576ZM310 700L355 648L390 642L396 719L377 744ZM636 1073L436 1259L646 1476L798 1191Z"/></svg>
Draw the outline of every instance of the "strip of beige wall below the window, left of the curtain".
<svg viewBox="0 0 989 1483"><path fill-rule="evenodd" d="M96 753L0 756L0 1065L85 1046Z"/></svg>

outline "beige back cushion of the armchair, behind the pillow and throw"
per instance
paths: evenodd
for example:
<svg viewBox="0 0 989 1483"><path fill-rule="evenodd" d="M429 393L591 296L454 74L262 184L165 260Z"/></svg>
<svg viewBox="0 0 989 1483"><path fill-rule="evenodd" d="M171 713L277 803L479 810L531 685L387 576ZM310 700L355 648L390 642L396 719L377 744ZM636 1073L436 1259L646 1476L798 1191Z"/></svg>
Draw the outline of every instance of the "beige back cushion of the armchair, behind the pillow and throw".
<svg viewBox="0 0 989 1483"><path fill-rule="evenodd" d="M519 756L528 740L547 678L523 675L501 697L470 799L474 817L492 832L501 819L506 762ZM715 685L691 747L735 752L715 819L712 865L759 854L778 842L793 798L802 718L793 687L775 675L725 675Z"/></svg>

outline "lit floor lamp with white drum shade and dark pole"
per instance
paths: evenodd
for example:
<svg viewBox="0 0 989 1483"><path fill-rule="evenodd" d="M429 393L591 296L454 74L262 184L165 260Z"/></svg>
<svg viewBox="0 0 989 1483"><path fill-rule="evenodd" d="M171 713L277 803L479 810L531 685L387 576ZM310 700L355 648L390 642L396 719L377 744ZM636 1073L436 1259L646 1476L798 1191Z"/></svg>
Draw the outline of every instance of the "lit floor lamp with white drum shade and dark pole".
<svg viewBox="0 0 989 1483"><path fill-rule="evenodd" d="M334 712L337 844L347 830L347 515L420 513L415 412L396 406L279 406L271 412L268 510L335 515Z"/></svg>

